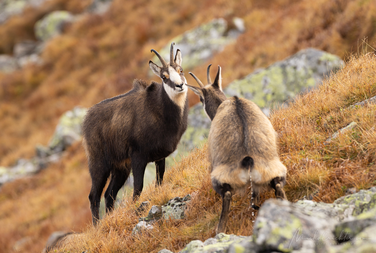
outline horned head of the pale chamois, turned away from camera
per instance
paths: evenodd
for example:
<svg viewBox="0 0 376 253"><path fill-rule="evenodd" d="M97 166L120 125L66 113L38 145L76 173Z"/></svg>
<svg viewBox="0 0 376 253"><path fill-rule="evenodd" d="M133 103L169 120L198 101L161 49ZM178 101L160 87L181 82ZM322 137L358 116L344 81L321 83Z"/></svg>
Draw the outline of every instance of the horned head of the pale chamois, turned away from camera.
<svg viewBox="0 0 376 253"><path fill-rule="evenodd" d="M187 85L194 93L196 93L204 105L204 110L211 120L213 120L215 113L217 112L218 106L226 100L226 96L222 91L222 78L221 78L221 67L218 65L218 72L214 79L214 82L211 82L210 79L210 70L211 64L207 69L207 78L208 84L204 86L199 78L196 77L193 73L189 72L193 78L199 83L200 87L194 87Z"/></svg>

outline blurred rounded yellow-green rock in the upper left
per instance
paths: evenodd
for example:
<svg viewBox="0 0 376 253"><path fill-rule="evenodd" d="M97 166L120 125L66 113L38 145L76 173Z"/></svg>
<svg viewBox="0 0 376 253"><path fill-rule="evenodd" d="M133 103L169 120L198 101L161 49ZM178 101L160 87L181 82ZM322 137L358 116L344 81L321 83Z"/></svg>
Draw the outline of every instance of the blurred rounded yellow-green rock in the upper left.
<svg viewBox="0 0 376 253"><path fill-rule="evenodd" d="M67 11L51 12L41 20L38 20L34 26L35 36L40 40L48 40L63 32L64 25L72 22L74 16Z"/></svg>

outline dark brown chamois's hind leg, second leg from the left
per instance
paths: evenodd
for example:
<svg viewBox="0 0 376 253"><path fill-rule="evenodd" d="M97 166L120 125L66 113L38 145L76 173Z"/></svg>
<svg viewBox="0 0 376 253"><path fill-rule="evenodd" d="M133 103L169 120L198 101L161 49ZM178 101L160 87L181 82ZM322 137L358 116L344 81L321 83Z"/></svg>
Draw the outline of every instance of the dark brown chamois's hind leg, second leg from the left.
<svg viewBox="0 0 376 253"><path fill-rule="evenodd" d="M110 184L105 192L106 213L110 212L114 208L117 193L129 177L129 173L129 168L124 168L123 170L113 170L111 172Z"/></svg>

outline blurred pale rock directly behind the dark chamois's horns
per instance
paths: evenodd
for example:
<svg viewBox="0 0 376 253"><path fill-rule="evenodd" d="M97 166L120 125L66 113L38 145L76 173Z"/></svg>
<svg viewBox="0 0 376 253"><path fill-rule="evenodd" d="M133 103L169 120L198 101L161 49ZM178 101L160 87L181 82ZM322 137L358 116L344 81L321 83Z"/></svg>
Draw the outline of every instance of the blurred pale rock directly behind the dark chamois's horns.
<svg viewBox="0 0 376 253"><path fill-rule="evenodd" d="M172 38L159 53L165 59L169 59L170 45L175 42L183 57L182 67L198 66L222 51L226 45L233 43L236 37L244 32L245 27L242 19L237 18L233 22L236 31L229 32L226 20L223 18L214 19ZM153 61L158 62L158 58L155 56Z"/></svg>

